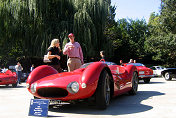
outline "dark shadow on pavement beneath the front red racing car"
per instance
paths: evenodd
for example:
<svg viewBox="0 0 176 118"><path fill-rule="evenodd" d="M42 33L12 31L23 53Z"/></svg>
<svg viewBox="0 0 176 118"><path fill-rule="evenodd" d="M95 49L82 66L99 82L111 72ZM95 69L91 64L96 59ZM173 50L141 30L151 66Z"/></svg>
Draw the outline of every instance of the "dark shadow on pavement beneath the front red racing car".
<svg viewBox="0 0 176 118"><path fill-rule="evenodd" d="M122 115L132 114L151 110L153 107L144 105L141 102L154 96L164 95L157 91L138 91L135 96L127 94L113 98L106 110L98 110L95 106L82 104L63 105L50 108L51 112L90 114L90 115Z"/></svg>

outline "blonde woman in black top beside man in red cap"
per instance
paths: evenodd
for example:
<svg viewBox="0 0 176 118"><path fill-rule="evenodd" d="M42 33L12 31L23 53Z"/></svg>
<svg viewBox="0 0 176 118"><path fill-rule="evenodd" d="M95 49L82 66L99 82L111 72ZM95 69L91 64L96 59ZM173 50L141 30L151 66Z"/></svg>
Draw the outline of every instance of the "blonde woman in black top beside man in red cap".
<svg viewBox="0 0 176 118"><path fill-rule="evenodd" d="M60 59L61 59L61 49L60 49L60 43L59 39L53 39L51 41L51 45L48 48L48 59L51 60L51 62L48 63L48 65L55 68L58 72L62 72L61 66L60 66Z"/></svg>

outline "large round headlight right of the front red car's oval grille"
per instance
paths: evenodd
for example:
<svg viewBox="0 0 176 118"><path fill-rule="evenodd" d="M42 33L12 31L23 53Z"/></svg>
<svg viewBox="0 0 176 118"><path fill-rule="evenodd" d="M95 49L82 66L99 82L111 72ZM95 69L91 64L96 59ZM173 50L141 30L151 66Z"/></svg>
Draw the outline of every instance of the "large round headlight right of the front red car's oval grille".
<svg viewBox="0 0 176 118"><path fill-rule="evenodd" d="M71 82L67 85L67 90L70 92L70 93L77 93L79 91L79 84L78 82L74 81L74 82Z"/></svg>

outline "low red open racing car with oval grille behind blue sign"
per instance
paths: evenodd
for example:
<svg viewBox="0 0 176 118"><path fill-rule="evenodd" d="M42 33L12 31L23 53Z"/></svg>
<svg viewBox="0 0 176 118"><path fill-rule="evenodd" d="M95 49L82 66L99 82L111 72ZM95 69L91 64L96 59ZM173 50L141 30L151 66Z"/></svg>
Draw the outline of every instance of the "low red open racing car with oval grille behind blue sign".
<svg viewBox="0 0 176 118"><path fill-rule="evenodd" d="M36 98L61 101L93 101L106 109L110 99L123 93L135 95L138 73L134 65L91 62L72 72L58 73L48 65L35 68L27 79L27 89Z"/></svg>

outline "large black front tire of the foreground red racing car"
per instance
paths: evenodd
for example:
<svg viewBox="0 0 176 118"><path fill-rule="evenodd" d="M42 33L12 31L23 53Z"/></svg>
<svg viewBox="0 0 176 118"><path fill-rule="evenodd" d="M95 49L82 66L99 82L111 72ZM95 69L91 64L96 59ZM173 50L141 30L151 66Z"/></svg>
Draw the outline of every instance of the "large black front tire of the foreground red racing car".
<svg viewBox="0 0 176 118"><path fill-rule="evenodd" d="M110 76L106 70L102 71L96 89L96 106L106 109L110 104Z"/></svg>

